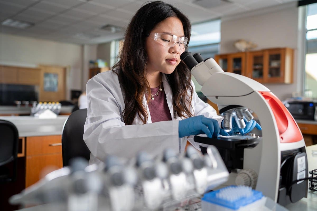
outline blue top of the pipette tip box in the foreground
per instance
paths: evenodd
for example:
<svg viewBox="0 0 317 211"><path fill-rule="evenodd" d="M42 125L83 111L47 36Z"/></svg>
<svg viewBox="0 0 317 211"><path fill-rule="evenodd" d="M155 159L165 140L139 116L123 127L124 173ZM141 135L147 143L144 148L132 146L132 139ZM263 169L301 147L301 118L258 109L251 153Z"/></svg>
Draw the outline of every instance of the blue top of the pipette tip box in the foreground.
<svg viewBox="0 0 317 211"><path fill-rule="evenodd" d="M205 202L209 202L209 203L213 203L213 204L217 204L226 208L230 208L233 210L237 210L241 207L244 207L246 205L249 205L253 202L256 202L257 200L260 200L263 195L262 192L257 191L257 190L253 190L253 189L249 189L249 194L248 196L245 196L243 194L241 194L241 191L239 191L239 189L245 189L248 188L246 186L228 186L226 188L223 189L219 189L216 191L212 191L209 193L204 194L204 197L202 198L202 201ZM231 191L230 191L231 190ZM232 190L236 190L234 193L232 193ZM231 197L230 200L228 199L224 199L223 197L219 196L221 194L228 194L228 195L233 195Z"/></svg>

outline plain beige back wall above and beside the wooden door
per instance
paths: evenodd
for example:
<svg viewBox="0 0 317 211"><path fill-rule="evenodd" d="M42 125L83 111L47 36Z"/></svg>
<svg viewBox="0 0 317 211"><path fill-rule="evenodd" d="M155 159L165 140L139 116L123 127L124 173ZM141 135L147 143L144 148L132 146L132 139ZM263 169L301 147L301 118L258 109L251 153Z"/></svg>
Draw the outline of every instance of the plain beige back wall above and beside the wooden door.
<svg viewBox="0 0 317 211"><path fill-rule="evenodd" d="M82 89L82 45L68 44L0 33L0 64L35 67L66 67L66 98L70 90Z"/></svg>

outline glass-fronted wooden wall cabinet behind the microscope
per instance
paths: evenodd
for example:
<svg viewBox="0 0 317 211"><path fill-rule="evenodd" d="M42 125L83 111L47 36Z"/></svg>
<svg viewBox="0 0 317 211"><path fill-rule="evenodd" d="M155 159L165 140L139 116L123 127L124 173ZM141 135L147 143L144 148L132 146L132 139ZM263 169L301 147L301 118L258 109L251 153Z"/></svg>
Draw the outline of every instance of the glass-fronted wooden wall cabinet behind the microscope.
<svg viewBox="0 0 317 211"><path fill-rule="evenodd" d="M271 48L215 56L224 71L241 74L260 83L293 83L294 50Z"/></svg>

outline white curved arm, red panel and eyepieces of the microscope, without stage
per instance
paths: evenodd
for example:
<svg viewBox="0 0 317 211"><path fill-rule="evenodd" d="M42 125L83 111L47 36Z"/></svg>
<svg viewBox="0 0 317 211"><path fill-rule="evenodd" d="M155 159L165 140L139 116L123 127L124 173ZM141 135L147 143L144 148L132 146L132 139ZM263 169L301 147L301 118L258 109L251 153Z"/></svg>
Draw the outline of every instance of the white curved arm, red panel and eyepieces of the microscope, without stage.
<svg viewBox="0 0 317 211"><path fill-rule="evenodd" d="M242 75L224 72L214 59L203 61L200 54L194 56L189 54L190 52L184 52L181 59L191 69L197 82L202 85L202 93L211 102L216 103L219 110L230 105L240 105L258 115L262 127L262 141L254 148L244 149L243 169L255 171L258 175L256 190L262 191L263 195L277 202L281 152L301 149L306 156L305 142L294 118L264 85ZM194 58L197 60L196 63L192 60ZM305 177L307 177L307 157L305 158ZM308 183L305 190L306 197L307 185Z"/></svg>

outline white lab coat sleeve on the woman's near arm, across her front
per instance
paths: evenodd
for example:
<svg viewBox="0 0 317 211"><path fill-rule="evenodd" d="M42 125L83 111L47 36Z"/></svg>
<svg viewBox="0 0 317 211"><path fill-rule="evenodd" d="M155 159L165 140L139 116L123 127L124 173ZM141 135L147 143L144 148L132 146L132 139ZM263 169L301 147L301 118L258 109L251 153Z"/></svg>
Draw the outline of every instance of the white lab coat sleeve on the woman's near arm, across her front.
<svg viewBox="0 0 317 211"><path fill-rule="evenodd" d="M178 121L125 125L119 83L97 75L87 82L86 89L88 109L83 139L94 157L103 161L112 154L129 159L139 151L156 156L167 147L178 152Z"/></svg>

